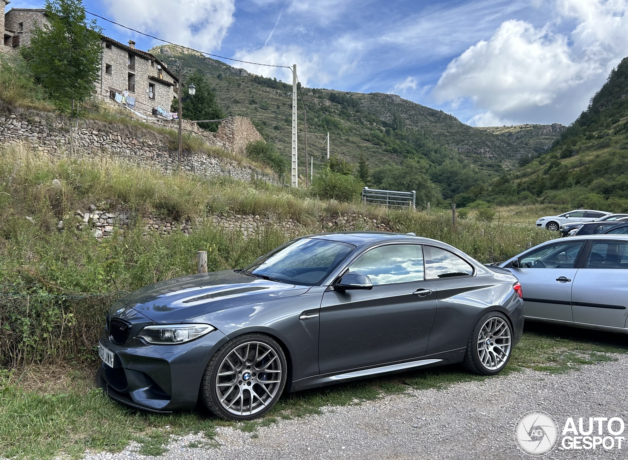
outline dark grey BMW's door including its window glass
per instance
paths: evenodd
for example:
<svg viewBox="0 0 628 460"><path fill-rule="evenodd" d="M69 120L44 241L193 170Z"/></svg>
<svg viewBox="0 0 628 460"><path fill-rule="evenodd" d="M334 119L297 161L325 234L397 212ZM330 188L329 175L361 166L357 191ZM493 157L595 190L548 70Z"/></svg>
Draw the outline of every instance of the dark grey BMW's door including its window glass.
<svg viewBox="0 0 628 460"><path fill-rule="evenodd" d="M368 275L370 290L327 291L320 308L321 373L376 366L425 355L436 291L424 281L421 245L367 250L349 266Z"/></svg>

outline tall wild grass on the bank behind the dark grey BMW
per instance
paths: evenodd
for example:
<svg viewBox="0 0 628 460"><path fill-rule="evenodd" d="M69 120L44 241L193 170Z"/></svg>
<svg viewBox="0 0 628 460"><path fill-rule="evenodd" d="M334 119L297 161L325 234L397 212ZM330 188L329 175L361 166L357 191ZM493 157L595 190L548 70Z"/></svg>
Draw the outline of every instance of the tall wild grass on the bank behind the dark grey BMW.
<svg viewBox="0 0 628 460"><path fill-rule="evenodd" d="M131 211L135 223L98 242L89 229L77 230L73 217L90 204ZM445 211L386 211L264 182L163 176L111 160L55 159L24 146L6 147L0 149L0 366L93 359L105 311L124 292L195 272L197 250L208 251L209 270L234 269L289 238L279 225L244 238L210 219L189 236L143 235L139 219L145 212L292 219L302 234L344 230L336 218L355 214L450 243L481 262L504 260L549 237L527 225L473 219L459 220L454 230Z"/></svg>

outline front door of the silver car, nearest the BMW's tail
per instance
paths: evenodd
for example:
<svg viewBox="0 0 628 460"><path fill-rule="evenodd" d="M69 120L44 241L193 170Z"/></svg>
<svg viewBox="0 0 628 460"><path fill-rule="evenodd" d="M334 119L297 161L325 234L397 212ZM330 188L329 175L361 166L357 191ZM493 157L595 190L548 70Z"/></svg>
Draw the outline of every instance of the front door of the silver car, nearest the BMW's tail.
<svg viewBox="0 0 628 460"><path fill-rule="evenodd" d="M548 243L521 257L519 268L509 267L521 283L526 318L573 321L571 285L583 245L583 240Z"/></svg>

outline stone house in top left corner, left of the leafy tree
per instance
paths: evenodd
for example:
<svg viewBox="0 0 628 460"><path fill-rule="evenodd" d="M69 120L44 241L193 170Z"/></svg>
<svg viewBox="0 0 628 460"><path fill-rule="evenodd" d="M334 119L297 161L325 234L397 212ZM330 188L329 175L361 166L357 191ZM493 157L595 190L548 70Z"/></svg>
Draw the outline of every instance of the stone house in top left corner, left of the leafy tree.
<svg viewBox="0 0 628 460"><path fill-rule="evenodd" d="M11 2L0 0L2 11ZM0 29L4 31L4 40L0 45L3 53L13 53L19 46L28 46L35 28L41 28L46 22L46 10L43 8L11 8L0 14Z"/></svg>

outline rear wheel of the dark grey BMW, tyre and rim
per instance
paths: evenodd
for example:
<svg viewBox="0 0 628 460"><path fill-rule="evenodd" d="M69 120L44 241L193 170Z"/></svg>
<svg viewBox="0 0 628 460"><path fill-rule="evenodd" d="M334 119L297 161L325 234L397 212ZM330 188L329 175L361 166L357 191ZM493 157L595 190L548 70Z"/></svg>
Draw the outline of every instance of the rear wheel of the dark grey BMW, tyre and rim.
<svg viewBox="0 0 628 460"><path fill-rule="evenodd" d="M495 375L506 367L512 354L512 326L499 311L490 311L475 324L462 361L469 372Z"/></svg>

